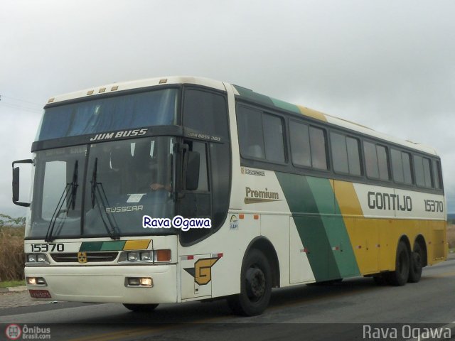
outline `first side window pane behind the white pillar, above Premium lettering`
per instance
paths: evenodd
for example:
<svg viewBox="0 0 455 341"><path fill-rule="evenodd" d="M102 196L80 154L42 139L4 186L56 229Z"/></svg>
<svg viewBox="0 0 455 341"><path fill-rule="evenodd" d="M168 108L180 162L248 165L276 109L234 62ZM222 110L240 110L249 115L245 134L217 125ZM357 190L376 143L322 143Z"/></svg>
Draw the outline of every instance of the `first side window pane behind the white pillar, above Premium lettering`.
<svg viewBox="0 0 455 341"><path fill-rule="evenodd" d="M237 130L242 156L265 158L262 113L259 110L237 106Z"/></svg>

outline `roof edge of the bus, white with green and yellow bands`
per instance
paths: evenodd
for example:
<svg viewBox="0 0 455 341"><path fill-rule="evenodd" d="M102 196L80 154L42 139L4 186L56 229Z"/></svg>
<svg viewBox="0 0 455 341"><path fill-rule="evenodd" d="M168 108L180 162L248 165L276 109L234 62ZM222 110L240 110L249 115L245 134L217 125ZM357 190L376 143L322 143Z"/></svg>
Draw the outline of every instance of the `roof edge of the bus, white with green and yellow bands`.
<svg viewBox="0 0 455 341"><path fill-rule="evenodd" d="M280 99L274 99L272 97L265 96L263 94L258 94L250 89L245 87L240 87L238 85L230 85L225 82L220 82L218 80L211 80L209 78L204 77L190 77L190 76L172 76L172 77L156 77L156 78L149 78L144 80L134 80L128 82L116 82L108 85L102 85L99 87L92 87L85 90L80 90L76 92L70 92L68 94L60 94L58 96L52 97L48 100L48 104L54 104L57 102L63 102L71 99L77 98L86 98L90 96L94 96L96 94L107 94L113 92L121 92L125 90L134 90L139 89L142 87L154 87L159 85L171 85L171 84L194 84L194 85L202 85L205 87L212 87L217 90L225 91L226 87L232 87L234 93L242 98L247 100L258 102L259 104L264 104L267 107L276 107L279 110L286 110L287 112L292 112L296 115L304 115L306 117L311 117L312 119L317 119L319 121L328 122L329 124L333 124L336 126L341 126L345 129L349 129L352 131L357 131L360 134L365 134L367 136L372 136L377 139L382 139L385 141L392 142L394 144L399 144L401 146L405 146L407 148L415 149L418 151L422 151L424 153L429 153L433 155L437 155L437 152L434 148L430 146L424 146L422 144L414 143L412 141L405 141L402 139L397 139L393 136L380 133L379 131L375 131L370 129L366 126L362 126L360 124L355 124L351 121L347 121L346 119L341 119L339 117L334 117L328 114L324 114L322 112L318 112L317 110L310 109L308 107L303 107L296 104L291 104L289 102L284 102Z"/></svg>

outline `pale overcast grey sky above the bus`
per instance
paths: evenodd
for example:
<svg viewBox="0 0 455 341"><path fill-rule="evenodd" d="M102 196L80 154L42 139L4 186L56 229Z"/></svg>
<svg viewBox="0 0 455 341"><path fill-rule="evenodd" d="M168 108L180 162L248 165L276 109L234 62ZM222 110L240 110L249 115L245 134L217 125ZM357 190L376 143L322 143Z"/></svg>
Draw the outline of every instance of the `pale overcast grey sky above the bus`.
<svg viewBox="0 0 455 341"><path fill-rule="evenodd" d="M433 146L455 212L454 17L450 0L4 1L0 212L25 216L11 202L11 162L31 158L50 97L166 75L231 82Z"/></svg>

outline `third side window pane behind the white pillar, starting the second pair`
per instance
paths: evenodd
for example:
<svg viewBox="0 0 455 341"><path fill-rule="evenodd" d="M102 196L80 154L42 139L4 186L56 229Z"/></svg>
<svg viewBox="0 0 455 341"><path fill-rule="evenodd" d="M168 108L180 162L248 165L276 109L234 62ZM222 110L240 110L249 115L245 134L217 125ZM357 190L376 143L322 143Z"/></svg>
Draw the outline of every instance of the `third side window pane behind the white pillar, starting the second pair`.
<svg viewBox="0 0 455 341"><path fill-rule="evenodd" d="M296 166L311 167L310 135L306 124L289 121L292 163Z"/></svg>

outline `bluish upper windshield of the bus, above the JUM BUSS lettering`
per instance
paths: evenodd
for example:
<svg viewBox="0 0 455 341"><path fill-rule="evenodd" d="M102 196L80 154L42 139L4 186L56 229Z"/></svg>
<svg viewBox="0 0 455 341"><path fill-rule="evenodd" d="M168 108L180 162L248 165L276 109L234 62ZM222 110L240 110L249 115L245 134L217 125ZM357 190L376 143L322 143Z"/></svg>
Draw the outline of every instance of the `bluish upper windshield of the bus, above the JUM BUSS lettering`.
<svg viewBox="0 0 455 341"><path fill-rule="evenodd" d="M153 90L48 107L36 141L177 124L178 92Z"/></svg>

